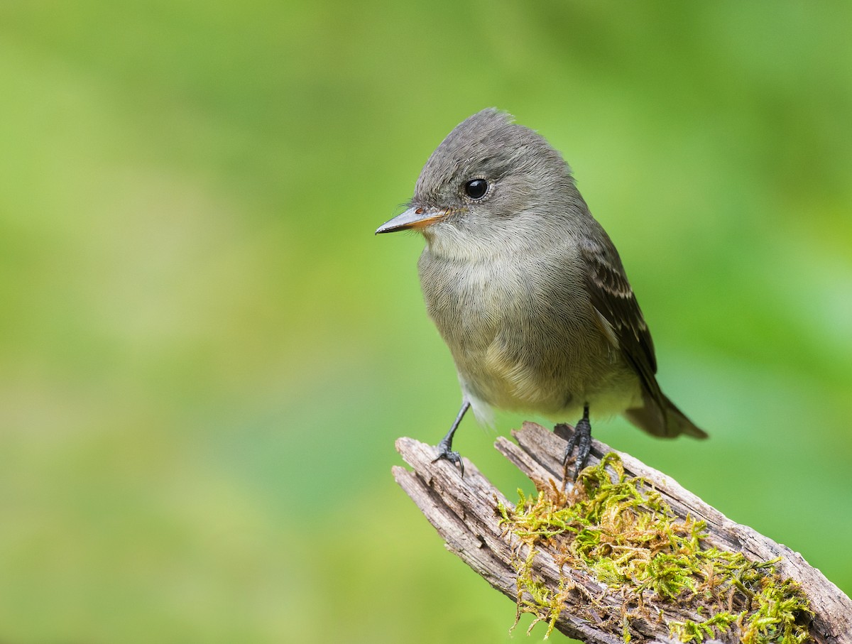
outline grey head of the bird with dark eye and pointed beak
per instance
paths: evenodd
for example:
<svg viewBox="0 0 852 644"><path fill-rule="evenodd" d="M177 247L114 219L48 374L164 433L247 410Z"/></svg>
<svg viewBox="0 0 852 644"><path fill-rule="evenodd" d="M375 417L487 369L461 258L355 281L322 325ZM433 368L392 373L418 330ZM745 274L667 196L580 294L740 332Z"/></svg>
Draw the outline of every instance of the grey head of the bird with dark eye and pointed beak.
<svg viewBox="0 0 852 644"><path fill-rule="evenodd" d="M488 108L446 136L423 166L407 210L376 233L413 229L432 250L478 254L531 236L576 193L559 152Z"/></svg>

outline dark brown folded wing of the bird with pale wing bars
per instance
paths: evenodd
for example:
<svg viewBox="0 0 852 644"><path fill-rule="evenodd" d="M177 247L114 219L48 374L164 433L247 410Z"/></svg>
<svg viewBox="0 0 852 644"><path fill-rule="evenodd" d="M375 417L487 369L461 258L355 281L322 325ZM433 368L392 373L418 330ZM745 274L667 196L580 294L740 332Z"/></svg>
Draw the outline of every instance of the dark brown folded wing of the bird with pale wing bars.
<svg viewBox="0 0 852 644"><path fill-rule="evenodd" d="M660 411L664 410L663 393L655 377L657 359L653 354L651 333L627 281L618 252L611 244L586 240L580 247L580 254L588 268L586 287L592 305L608 323L607 331L615 336L625 359L636 369L645 393L659 405ZM665 431L665 416L661 420Z"/></svg>

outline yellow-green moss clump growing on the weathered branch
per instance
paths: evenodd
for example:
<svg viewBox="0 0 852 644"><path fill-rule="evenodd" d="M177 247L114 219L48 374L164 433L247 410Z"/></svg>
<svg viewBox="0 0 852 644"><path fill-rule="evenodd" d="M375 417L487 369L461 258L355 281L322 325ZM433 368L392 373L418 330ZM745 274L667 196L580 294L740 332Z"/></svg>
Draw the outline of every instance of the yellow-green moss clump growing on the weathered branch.
<svg viewBox="0 0 852 644"><path fill-rule="evenodd" d="M743 644L798 644L808 639L809 604L774 561L749 561L741 553L710 547L705 523L677 518L644 480L625 475L621 459L607 454L584 469L571 492L551 481L534 497L520 492L515 509L499 505L503 523L528 546L515 562L517 618L535 615L550 635L567 594L587 593L564 574L556 590L533 575L538 549L546 548L561 570L590 572L623 601L587 597L580 616L618 633L625 642L642 635L637 619L663 619L671 637L701 642L732 630ZM697 619L666 621L666 608L688 607ZM619 605L619 608L614 606ZM651 608L653 606L653 608ZM517 618L515 624L517 624ZM532 626L530 627L532 629Z"/></svg>

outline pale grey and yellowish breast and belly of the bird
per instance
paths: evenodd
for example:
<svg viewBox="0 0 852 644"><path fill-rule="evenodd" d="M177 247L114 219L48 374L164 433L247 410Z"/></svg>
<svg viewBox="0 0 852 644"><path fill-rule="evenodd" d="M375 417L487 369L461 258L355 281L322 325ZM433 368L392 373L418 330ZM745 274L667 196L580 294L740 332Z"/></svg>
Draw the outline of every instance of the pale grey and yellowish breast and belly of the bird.
<svg viewBox="0 0 852 644"><path fill-rule="evenodd" d="M423 252L423 296L467 393L545 415L582 409L603 392L614 393L615 407L632 396L621 391L631 388L629 371L564 261L467 262Z"/></svg>

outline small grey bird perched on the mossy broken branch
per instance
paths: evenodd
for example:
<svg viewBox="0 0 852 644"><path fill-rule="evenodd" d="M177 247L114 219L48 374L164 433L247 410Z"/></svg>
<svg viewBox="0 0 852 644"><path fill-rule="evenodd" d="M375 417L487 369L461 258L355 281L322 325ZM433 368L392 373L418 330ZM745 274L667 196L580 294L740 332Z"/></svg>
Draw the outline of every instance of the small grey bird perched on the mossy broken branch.
<svg viewBox="0 0 852 644"><path fill-rule="evenodd" d="M574 477L591 447L590 411L625 414L655 436L705 438L660 391L648 325L619 253L544 138L496 109L467 118L417 179L409 208L376 233L414 229L429 317L452 352L462 407L582 417L565 450Z"/></svg>

